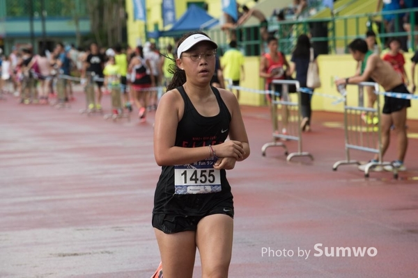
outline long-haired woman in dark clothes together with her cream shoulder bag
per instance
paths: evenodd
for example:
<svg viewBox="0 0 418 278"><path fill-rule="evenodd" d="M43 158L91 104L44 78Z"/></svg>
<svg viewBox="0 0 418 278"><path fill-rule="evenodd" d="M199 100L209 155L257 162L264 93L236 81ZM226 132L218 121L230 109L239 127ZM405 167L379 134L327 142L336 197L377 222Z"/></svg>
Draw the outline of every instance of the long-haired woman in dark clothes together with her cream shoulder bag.
<svg viewBox="0 0 418 278"><path fill-rule="evenodd" d="M300 35L297 38L295 50L291 58L290 74L296 72L296 80L300 83L300 88L309 88L311 93L302 92L300 102L302 106L302 131L311 130L311 97L315 88L320 87L317 54L311 47L311 42L307 35Z"/></svg>

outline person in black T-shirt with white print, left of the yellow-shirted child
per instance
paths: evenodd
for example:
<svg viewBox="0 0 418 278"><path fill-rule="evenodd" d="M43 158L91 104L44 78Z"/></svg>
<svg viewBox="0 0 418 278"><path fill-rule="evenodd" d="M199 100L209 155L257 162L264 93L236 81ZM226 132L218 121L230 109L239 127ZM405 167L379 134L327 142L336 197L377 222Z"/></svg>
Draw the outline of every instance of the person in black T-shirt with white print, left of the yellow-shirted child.
<svg viewBox="0 0 418 278"><path fill-rule="evenodd" d="M88 104L89 109L102 109L102 86L104 81L103 67L104 56L99 52L98 44L93 42L92 44L90 44L90 53L86 57L86 60L84 60L84 72L85 74L94 73L95 78L99 79L95 81L95 83L98 85L98 101L96 103L96 107L94 107L94 104ZM83 78L84 77L85 76L83 76Z"/></svg>

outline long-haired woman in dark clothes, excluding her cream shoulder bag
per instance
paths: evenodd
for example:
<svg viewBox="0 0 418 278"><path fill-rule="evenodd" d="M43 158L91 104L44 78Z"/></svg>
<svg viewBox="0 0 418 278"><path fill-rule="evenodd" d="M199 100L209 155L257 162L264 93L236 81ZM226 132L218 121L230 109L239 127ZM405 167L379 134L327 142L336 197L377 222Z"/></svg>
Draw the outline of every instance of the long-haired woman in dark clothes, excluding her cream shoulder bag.
<svg viewBox="0 0 418 278"><path fill-rule="evenodd" d="M300 35L297 38L295 50L293 50L292 58L291 58L291 70L289 75L292 75L293 72L296 72L296 80L299 81L300 87L306 88L307 87L307 75L308 75L308 68L309 62L311 58L311 51L314 49L311 46L311 42L307 35ZM314 51L314 63L318 64L316 58L318 54ZM310 88L310 91L313 93L314 89ZM300 103L302 110L300 111L302 114L302 123L301 129L302 131L310 131L311 130L311 119L312 119L312 108L311 108L311 94L307 94L302 92L300 94Z"/></svg>

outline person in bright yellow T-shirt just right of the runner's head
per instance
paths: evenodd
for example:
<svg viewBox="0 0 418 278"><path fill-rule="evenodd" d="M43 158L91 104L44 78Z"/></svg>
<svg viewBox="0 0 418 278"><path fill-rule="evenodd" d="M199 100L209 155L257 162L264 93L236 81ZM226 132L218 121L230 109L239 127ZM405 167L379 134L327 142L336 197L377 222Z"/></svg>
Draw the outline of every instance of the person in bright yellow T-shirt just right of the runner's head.
<svg viewBox="0 0 418 278"><path fill-rule="evenodd" d="M224 78L231 79L232 85L239 86L240 80L245 79L244 55L237 49L235 40L229 43L229 47L230 49L221 58L221 67L224 71ZM240 90L237 90L237 99L240 100Z"/></svg>

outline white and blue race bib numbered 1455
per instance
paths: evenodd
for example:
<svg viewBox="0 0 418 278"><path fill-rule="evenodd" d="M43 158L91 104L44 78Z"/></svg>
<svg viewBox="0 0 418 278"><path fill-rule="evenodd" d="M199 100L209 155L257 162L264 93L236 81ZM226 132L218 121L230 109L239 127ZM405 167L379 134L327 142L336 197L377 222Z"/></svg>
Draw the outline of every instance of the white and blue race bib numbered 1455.
<svg viewBox="0 0 418 278"><path fill-rule="evenodd" d="M213 169L215 158L174 166L174 194L221 192L221 174Z"/></svg>

